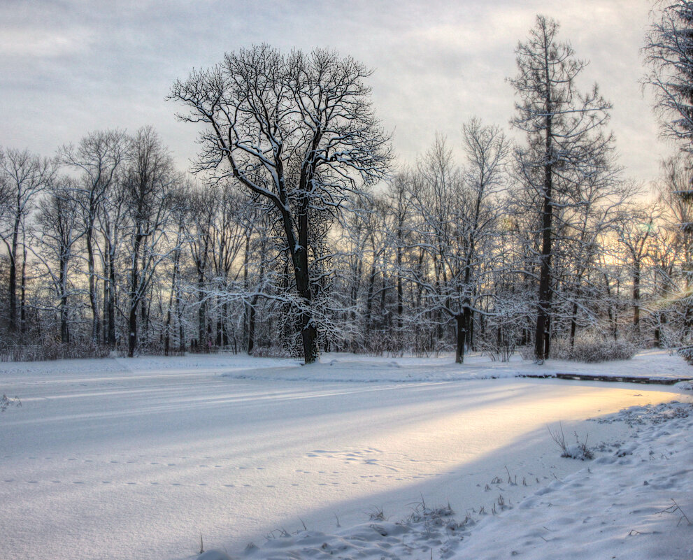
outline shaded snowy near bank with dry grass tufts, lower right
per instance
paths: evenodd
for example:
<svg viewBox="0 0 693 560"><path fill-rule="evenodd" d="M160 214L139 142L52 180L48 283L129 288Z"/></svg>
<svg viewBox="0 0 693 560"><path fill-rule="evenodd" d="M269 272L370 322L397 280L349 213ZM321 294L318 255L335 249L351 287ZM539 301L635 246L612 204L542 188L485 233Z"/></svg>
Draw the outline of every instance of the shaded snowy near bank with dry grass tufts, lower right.
<svg viewBox="0 0 693 560"><path fill-rule="evenodd" d="M251 545L252 560L478 559L685 560L693 557L693 408L690 403L634 407L598 422L631 426L580 471L554 480L516 505L496 481L495 511L413 505L399 522L380 517L330 533L276 533ZM606 452L604 452L606 451ZM571 459L564 459L570 461ZM199 560L226 560L213 550Z"/></svg>

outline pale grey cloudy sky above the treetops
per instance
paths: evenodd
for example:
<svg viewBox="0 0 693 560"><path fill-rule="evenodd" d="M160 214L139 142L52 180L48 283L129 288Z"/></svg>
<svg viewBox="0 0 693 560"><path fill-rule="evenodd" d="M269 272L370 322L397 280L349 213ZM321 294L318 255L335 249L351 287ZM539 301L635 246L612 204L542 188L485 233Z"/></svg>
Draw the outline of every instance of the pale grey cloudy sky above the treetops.
<svg viewBox="0 0 693 560"><path fill-rule="evenodd" d="M590 60L627 176L648 181L673 148L638 80L648 0L2 0L0 145L52 155L89 131L152 124L181 168L197 130L165 101L173 80L253 43L334 48L365 62L401 161L436 132L459 144L473 115L509 129L514 48L537 13Z"/></svg>

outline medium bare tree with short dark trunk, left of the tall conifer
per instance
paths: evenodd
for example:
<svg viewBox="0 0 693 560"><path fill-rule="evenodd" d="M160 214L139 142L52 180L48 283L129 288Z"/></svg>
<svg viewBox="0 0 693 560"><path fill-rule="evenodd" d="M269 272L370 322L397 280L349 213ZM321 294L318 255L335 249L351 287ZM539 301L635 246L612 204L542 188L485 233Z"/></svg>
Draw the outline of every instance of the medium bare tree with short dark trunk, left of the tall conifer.
<svg viewBox="0 0 693 560"><path fill-rule="evenodd" d="M497 127L477 119L464 125L467 166L458 170L445 141L438 138L420 161L420 182L411 192L417 219L414 238L431 261L430 267L410 269L410 280L425 292L424 308L441 310L455 321L455 361L464 361L473 313L487 313L480 303L501 246L496 224L501 207L503 167L508 142ZM427 268L432 268L433 275Z"/></svg>

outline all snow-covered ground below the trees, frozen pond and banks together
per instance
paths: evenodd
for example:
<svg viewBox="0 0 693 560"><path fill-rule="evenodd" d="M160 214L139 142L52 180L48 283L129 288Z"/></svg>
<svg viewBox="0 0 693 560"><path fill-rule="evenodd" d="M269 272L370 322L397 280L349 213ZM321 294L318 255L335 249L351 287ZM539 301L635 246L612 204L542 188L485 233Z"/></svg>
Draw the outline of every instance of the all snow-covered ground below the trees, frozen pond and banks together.
<svg viewBox="0 0 693 560"><path fill-rule="evenodd" d="M0 364L22 400L0 416L0 557L179 560L200 534L257 560L693 557L692 526L664 511L693 513L690 392L515 377L690 366L451 362ZM559 457L559 422L595 459Z"/></svg>

